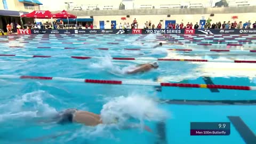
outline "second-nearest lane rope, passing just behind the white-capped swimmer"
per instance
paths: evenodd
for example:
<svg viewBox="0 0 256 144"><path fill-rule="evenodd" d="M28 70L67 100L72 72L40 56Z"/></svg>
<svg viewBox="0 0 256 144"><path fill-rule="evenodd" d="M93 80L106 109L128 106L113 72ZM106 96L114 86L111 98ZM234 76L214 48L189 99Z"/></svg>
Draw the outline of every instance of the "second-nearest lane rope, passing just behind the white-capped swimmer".
<svg viewBox="0 0 256 144"><path fill-rule="evenodd" d="M86 56L54 56L54 55L25 55L25 54L0 54L3 57L22 57L22 58L73 58L73 59L106 59L105 57L86 57ZM256 63L256 60L209 60L209 59L166 59L166 58L121 58L114 57L112 60L142 60L142 61L183 61L183 62L230 62L230 63Z"/></svg>

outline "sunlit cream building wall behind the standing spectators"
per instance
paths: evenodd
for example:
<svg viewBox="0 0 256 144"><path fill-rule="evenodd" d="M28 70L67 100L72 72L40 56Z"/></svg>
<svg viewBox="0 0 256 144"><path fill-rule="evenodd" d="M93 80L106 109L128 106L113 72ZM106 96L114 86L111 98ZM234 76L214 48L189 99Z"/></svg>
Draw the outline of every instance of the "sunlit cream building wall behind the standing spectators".
<svg viewBox="0 0 256 144"><path fill-rule="evenodd" d="M134 18L137 20L138 22L138 28L143 28L144 23L146 21L151 21L151 23L155 24L155 26L160 22L160 20L163 20L162 26L165 26L165 20L176 20L176 23L185 23L187 24L188 22L192 22L193 24L195 24L196 22L199 23L199 20L202 19L202 17L205 17L205 19L207 20L208 18L212 19L212 22L221 22L223 23L223 21L242 21L242 22L246 22L248 20L251 20L251 22L254 22L255 19L253 19L254 15L256 13L225 13L225 14L215 14L214 17L210 17L209 14L177 14L177 15L171 15L171 17L167 17L167 15L147 15L145 17L145 15L130 15L130 18L126 18L126 20L121 20L122 17L126 17L126 15L107 15L107 16L94 16L93 17L93 25L97 26L97 28L99 28L99 21L105 21L105 28L111 28L111 20L116 20L117 26L119 25L119 23L130 23L133 22ZM233 16L238 16L238 19L234 20L231 19L231 17ZM90 17L78 17L78 18L90 18ZM110 22L107 22L110 21Z"/></svg>

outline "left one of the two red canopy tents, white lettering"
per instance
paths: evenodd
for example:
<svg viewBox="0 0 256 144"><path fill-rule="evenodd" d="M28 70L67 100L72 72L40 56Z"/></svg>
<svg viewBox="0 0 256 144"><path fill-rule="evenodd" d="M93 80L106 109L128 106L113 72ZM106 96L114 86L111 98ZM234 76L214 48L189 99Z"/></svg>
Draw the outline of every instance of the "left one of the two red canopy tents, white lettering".
<svg viewBox="0 0 256 144"><path fill-rule="evenodd" d="M36 18L36 19L50 19L52 13L50 11L33 11L28 14L23 14L21 17Z"/></svg>

